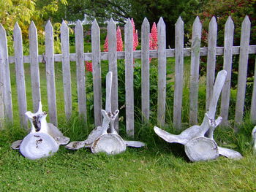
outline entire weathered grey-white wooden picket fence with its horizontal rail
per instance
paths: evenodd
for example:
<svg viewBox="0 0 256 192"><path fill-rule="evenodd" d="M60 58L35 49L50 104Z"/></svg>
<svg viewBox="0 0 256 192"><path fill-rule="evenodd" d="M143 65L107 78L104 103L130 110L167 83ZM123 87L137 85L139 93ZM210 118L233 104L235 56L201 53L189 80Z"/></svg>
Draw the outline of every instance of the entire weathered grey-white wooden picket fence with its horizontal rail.
<svg viewBox="0 0 256 192"><path fill-rule="evenodd" d="M24 113L26 106L26 88L24 63L31 64L31 86L34 111L37 110L38 102L41 100L39 82L39 63L45 60L47 90L48 90L48 112L50 122L57 124L56 111L56 88L54 62L62 62L63 84L64 84L64 104L67 119L72 115L72 95L70 61L76 61L77 87L78 87L78 110L79 115L86 120L86 89L85 89L85 66L84 61L92 61L93 64L93 84L94 84L94 123L96 126L102 123L102 82L100 61L108 60L109 71L113 72L113 88L111 95L112 110L118 109L118 77L117 60L125 60L125 90L126 90L126 126L127 134L134 134L134 93L133 93L133 59L141 58L142 65L142 115L143 120L149 119L150 112L150 84L149 84L149 58L158 58L158 102L157 120L160 125L165 124L165 100L166 100L166 58L175 57L175 92L173 105L173 125L181 127L182 94L184 78L184 56L191 56L190 72L190 113L189 123L197 123L197 103L198 103L198 83L200 56L207 55L206 74L206 107L211 99L214 77L215 63L217 55L224 55L224 69L227 71L227 80L222 90L221 116L223 123L227 123L228 109L230 101L230 77L232 69L233 55L239 57L238 91L236 99L236 123L241 123L244 115L244 99L246 91L246 72L248 65L248 55L256 53L256 45L249 45L250 21L246 16L241 27L241 44L233 46L234 24L231 18L225 24L224 47L217 47L217 21L211 19L208 26L208 47L200 47L202 25L199 18L195 19L192 26L192 46L184 48L184 22L178 18L176 23L175 49L166 49L165 23L162 18L157 24L158 50L149 50L150 25L145 18L141 28L141 50L133 51L132 47L132 23L130 20L125 25L125 51L116 52L116 24L113 19L108 22L108 52L100 52L100 33L97 21L94 20L91 26L91 53L83 53L83 26L80 21L75 26L75 53L69 53L69 28L63 22L61 26L61 54L53 53L53 26L48 21L45 26L45 55L38 55L37 28L31 22L29 28L29 53L23 55L23 45L20 27L18 23L14 28L15 55L9 56L7 50L6 31L0 26L0 119L12 122L12 92L10 87L9 64L15 63L16 83L18 92L18 108L20 114L20 125L27 126ZM256 83L252 94L251 118L256 121ZM118 119L118 118L117 118ZM118 121L116 121L118 128Z"/></svg>

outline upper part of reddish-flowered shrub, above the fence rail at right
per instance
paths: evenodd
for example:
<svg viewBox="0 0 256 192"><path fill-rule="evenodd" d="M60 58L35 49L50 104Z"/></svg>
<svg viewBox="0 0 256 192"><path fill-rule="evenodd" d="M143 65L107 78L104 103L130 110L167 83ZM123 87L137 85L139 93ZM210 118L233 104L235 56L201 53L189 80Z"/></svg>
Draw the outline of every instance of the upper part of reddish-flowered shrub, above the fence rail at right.
<svg viewBox="0 0 256 192"><path fill-rule="evenodd" d="M203 42L207 43L208 23L215 16L218 23L217 44L224 44L224 29L228 16L230 16L235 25L234 45L240 45L241 23L246 15L251 20L251 45L256 43L256 1L255 0L218 0L208 1L203 6L203 12L200 13L200 20L203 23ZM206 34L206 35L205 35Z"/></svg>

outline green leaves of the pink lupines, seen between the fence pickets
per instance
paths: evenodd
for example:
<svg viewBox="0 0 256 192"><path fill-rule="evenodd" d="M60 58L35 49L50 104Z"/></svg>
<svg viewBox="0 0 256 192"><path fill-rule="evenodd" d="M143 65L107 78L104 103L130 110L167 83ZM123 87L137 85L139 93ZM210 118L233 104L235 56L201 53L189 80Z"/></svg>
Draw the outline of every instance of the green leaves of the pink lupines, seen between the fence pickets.
<svg viewBox="0 0 256 192"><path fill-rule="evenodd" d="M140 61L135 60L134 63L134 106L135 106L135 119L141 121L141 64ZM102 69L102 101L103 109L105 108L105 74L108 69ZM120 123L125 122L125 66L124 60L118 60L118 107L119 107L119 118ZM150 110L151 116L156 117L157 115L157 62L154 60L150 64ZM170 95L170 90L173 88L173 82L169 81L167 77L167 95ZM92 73L86 73L86 94L87 94L87 107L90 118L93 119L94 108L93 108L93 77ZM173 100L171 97L167 97L167 103L170 104Z"/></svg>

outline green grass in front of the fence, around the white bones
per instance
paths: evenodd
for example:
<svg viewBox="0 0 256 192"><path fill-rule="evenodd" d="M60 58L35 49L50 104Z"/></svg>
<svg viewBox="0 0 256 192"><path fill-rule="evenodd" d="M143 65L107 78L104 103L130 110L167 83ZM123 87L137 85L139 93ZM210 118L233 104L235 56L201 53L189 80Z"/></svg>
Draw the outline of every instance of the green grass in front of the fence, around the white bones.
<svg viewBox="0 0 256 192"><path fill-rule="evenodd" d="M181 145L163 142L143 126L140 140L145 148L128 148L119 155L94 155L88 149L60 150L50 158L31 161L11 150L15 139L25 135L18 127L0 133L1 191L255 191L256 160L246 134L217 130L222 146L235 147L244 158L220 157L215 161L191 163ZM75 125L77 139L85 134ZM66 135L72 132L68 127ZM83 135L84 139L86 135ZM228 137L228 138L227 138ZM138 139L138 138L136 138ZM229 143L232 142L232 143ZM240 143L241 142L241 143Z"/></svg>

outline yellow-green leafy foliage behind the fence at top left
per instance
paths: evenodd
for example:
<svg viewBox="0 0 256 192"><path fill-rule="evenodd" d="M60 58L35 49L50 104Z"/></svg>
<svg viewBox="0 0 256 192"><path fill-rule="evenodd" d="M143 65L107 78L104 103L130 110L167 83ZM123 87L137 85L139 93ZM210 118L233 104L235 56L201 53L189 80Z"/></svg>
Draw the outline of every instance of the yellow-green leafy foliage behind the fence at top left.
<svg viewBox="0 0 256 192"><path fill-rule="evenodd" d="M51 0L48 4L39 4L40 0L7 0L0 1L0 23L7 31L9 53L13 54L12 30L18 22L23 35L24 53L29 53L29 24L31 20L37 25L39 46L44 45L45 21L48 20L49 12L57 12L60 4L67 4L66 0ZM60 53L59 39L60 23L53 24L55 51ZM42 40L43 39L43 40Z"/></svg>

